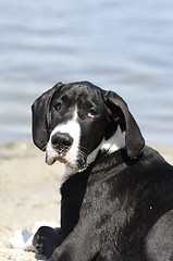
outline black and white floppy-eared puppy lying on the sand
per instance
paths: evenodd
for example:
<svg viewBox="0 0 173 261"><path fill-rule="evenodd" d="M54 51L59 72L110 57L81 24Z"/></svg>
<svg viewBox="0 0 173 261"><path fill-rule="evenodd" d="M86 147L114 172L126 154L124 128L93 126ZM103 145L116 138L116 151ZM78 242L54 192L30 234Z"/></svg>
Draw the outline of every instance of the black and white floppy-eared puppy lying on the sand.
<svg viewBox="0 0 173 261"><path fill-rule="evenodd" d="M173 260L173 166L145 145L125 101L59 83L32 109L35 145L65 164L61 228L41 226L35 248L54 261Z"/></svg>

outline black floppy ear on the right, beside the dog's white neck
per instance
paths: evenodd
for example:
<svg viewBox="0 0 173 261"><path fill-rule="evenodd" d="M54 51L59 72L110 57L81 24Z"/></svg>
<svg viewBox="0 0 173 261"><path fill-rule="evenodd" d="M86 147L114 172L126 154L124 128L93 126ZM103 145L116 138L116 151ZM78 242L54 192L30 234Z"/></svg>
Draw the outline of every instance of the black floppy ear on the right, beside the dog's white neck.
<svg viewBox="0 0 173 261"><path fill-rule="evenodd" d="M143 151L145 140L141 136L140 129L131 114L125 101L113 91L107 92L106 104L111 111L114 121L122 117L120 121L121 128L125 130L125 147L126 153L131 159L136 159Z"/></svg>

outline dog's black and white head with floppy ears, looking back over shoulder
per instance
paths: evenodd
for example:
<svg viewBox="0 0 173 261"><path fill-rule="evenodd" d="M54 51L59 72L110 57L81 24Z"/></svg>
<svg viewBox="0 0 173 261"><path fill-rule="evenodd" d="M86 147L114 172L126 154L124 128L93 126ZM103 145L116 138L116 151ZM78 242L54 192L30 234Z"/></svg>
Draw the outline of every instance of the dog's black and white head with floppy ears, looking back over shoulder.
<svg viewBox="0 0 173 261"><path fill-rule="evenodd" d="M33 104L33 139L46 161L84 170L99 151L125 148L137 158L145 141L124 100L88 82L61 84Z"/></svg>

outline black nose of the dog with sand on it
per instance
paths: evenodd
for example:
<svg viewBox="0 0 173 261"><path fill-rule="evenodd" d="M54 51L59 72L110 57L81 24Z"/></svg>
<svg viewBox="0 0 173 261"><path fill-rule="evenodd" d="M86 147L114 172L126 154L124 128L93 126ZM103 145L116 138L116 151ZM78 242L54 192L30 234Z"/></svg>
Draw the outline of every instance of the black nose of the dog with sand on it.
<svg viewBox="0 0 173 261"><path fill-rule="evenodd" d="M65 153L73 144L73 138L67 133L55 133L51 137L53 148L60 152Z"/></svg>

